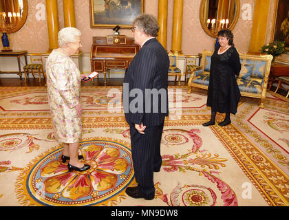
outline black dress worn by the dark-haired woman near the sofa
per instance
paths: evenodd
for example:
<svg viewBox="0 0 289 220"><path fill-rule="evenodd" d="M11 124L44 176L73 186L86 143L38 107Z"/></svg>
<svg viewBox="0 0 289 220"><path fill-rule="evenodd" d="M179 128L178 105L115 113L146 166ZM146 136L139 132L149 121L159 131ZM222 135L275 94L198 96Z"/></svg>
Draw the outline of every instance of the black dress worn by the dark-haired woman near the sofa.
<svg viewBox="0 0 289 220"><path fill-rule="evenodd" d="M241 63L235 47L231 46L223 54L217 54L220 46L211 57L210 80L206 106L220 113L237 113L241 94L235 75L239 76Z"/></svg>

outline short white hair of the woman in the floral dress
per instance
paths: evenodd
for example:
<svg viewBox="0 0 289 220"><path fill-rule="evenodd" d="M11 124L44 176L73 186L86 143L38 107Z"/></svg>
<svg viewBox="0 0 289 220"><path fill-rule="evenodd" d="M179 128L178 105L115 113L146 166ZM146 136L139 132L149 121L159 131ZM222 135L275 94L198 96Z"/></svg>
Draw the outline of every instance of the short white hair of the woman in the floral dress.
<svg viewBox="0 0 289 220"><path fill-rule="evenodd" d="M67 43L76 42L77 36L81 36L81 31L77 28L62 28L58 32L58 45L59 47L63 47L63 45Z"/></svg>

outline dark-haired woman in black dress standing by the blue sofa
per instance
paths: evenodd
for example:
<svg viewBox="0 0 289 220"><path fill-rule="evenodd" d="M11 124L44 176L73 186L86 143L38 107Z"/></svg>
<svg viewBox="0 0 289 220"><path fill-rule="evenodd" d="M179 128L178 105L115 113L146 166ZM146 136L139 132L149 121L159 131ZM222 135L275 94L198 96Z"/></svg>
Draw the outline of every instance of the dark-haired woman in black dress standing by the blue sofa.
<svg viewBox="0 0 289 220"><path fill-rule="evenodd" d="M211 120L203 126L215 124L217 112L226 113L226 118L220 126L231 123L230 113L237 113L241 97L236 76L239 76L241 63L239 54L233 44L231 30L220 30L217 34L220 46L216 47L211 57L210 81L208 84L208 99L206 106L211 107Z"/></svg>

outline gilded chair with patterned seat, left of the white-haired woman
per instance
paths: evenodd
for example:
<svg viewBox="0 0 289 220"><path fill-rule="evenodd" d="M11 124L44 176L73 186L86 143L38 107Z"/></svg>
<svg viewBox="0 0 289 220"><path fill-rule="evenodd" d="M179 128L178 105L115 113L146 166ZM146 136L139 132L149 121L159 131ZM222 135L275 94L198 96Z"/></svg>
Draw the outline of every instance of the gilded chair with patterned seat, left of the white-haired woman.
<svg viewBox="0 0 289 220"><path fill-rule="evenodd" d="M31 64L25 65L23 67L25 74L25 82L29 73L35 78L34 74L39 74L39 83L41 82L41 74L43 74L44 80L46 82L45 72L43 71L43 61L42 54L30 54Z"/></svg>

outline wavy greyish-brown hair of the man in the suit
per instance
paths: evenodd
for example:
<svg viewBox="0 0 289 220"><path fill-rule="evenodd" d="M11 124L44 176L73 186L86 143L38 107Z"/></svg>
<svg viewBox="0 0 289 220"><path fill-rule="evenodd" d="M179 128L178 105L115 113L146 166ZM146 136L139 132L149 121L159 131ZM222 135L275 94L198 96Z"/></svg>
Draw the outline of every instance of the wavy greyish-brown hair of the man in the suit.
<svg viewBox="0 0 289 220"><path fill-rule="evenodd" d="M143 29L145 34L154 37L158 36L158 31L160 30L157 19L151 14L141 14L134 19L133 25Z"/></svg>

